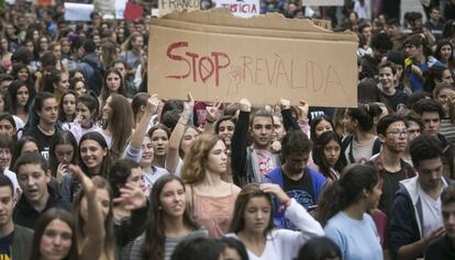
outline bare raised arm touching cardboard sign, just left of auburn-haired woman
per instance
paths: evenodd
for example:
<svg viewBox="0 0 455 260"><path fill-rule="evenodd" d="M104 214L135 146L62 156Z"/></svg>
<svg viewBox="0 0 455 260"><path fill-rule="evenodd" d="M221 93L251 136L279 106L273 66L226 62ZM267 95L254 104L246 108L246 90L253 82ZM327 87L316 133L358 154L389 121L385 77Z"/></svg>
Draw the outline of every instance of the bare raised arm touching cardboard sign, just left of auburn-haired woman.
<svg viewBox="0 0 455 260"><path fill-rule="evenodd" d="M184 103L184 112L181 112L180 118L174 127L173 134L169 138L169 149L166 155L166 169L171 173L176 173L177 163L179 159L178 150L180 148L181 137L185 134L185 127L188 124L188 118L191 116L192 109L195 108L195 100L191 93L188 94L188 101Z"/></svg>

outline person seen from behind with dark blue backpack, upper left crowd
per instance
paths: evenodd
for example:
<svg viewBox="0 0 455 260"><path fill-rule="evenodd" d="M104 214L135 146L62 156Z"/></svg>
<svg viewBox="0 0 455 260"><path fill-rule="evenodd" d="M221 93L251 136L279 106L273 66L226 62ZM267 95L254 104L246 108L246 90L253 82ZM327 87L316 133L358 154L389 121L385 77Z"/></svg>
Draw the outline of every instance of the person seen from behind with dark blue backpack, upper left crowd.
<svg viewBox="0 0 455 260"><path fill-rule="evenodd" d="M92 39L86 39L81 48L84 56L78 68L82 71L88 88L99 95L103 86L106 68L96 53L97 45Z"/></svg>

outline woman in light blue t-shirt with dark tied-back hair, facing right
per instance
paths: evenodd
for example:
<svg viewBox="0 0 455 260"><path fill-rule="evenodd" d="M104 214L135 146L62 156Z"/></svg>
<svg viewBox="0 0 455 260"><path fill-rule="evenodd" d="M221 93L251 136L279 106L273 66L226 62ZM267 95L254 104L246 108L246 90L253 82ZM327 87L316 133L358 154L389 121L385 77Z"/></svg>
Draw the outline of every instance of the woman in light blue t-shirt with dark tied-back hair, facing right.
<svg viewBox="0 0 455 260"><path fill-rule="evenodd" d="M375 222L367 214L381 195L378 173L371 166L353 165L326 188L318 207L325 234L341 249L342 259L382 259Z"/></svg>

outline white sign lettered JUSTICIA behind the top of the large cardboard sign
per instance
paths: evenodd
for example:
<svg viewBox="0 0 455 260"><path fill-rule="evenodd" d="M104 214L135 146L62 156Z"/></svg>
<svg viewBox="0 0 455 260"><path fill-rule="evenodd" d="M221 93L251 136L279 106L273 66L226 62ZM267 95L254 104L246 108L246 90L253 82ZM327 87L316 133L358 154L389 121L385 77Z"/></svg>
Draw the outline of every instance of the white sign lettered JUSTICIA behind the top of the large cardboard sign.
<svg viewBox="0 0 455 260"><path fill-rule="evenodd" d="M251 18L260 13L259 0L217 0L217 8L228 10L238 18Z"/></svg>

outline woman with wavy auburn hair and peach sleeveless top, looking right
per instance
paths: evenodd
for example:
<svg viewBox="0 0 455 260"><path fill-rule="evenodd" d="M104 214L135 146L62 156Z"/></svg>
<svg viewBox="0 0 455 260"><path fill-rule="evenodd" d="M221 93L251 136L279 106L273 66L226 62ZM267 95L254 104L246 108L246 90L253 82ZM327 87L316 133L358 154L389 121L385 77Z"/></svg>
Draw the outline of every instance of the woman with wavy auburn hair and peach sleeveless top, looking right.
<svg viewBox="0 0 455 260"><path fill-rule="evenodd" d="M238 186L221 179L226 169L226 147L213 134L202 134L191 144L181 169L192 216L211 238L228 233L240 192Z"/></svg>

